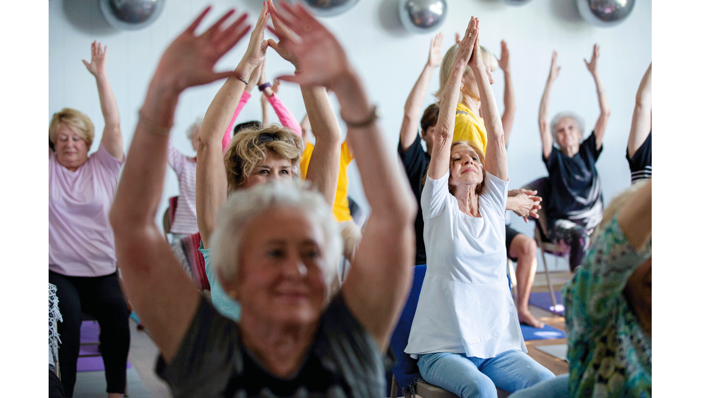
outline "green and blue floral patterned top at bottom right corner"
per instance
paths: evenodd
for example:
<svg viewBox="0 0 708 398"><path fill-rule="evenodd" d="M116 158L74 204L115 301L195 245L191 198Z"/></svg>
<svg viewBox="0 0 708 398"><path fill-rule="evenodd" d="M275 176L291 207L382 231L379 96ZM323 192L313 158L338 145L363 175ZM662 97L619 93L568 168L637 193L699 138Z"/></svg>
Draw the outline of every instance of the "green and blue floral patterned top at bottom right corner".
<svg viewBox="0 0 708 398"><path fill-rule="evenodd" d="M617 216L563 286L571 397L651 397L651 337L622 292L651 257L629 245Z"/></svg>

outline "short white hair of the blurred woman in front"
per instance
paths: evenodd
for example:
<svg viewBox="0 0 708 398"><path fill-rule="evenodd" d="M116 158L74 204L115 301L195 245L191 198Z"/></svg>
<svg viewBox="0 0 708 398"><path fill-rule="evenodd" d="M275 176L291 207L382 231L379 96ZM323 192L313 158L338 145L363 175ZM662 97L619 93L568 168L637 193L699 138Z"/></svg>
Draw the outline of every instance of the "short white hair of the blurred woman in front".
<svg viewBox="0 0 708 398"><path fill-rule="evenodd" d="M223 281L234 281L238 278L242 261L241 242L246 225L263 213L282 208L298 209L322 228L322 253L326 264L324 275L331 295L333 292L330 282L337 277L337 265L342 255L342 238L332 216L331 206L326 204L319 192L310 189L304 182L266 182L249 189L239 189L229 197L219 210L213 235L213 261L220 271L220 276Z"/></svg>

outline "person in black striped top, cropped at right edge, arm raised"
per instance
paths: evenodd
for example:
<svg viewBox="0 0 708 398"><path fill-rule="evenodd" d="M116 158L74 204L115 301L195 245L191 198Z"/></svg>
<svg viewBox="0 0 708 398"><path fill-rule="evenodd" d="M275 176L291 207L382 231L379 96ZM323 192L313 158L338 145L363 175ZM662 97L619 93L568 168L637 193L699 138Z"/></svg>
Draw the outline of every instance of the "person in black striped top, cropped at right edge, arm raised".
<svg viewBox="0 0 708 398"><path fill-rule="evenodd" d="M651 178L651 64L636 90L632 128L627 140L627 162L632 184Z"/></svg>

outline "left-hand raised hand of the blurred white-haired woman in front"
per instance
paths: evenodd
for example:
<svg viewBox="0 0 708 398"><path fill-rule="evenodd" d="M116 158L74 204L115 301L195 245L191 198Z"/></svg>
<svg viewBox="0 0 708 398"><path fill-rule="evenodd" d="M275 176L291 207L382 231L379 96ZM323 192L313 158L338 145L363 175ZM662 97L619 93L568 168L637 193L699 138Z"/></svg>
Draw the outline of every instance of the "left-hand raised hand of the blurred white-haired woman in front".
<svg viewBox="0 0 708 398"><path fill-rule="evenodd" d="M241 40L251 28L246 25L246 14L242 14L234 23L222 29L224 21L232 16L230 10L219 18L211 28L196 36L195 30L210 11L207 7L189 27L167 47L160 59L153 80L166 85L176 93L191 86L200 86L234 76L234 71L215 72L214 65L236 42Z"/></svg>

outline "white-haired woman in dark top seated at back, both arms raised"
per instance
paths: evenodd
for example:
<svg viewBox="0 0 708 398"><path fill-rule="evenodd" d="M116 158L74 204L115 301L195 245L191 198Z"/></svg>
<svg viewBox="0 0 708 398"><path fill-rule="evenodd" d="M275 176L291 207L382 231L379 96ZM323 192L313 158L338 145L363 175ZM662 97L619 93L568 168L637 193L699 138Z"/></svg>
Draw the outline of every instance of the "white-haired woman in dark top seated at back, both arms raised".
<svg viewBox="0 0 708 398"><path fill-rule="evenodd" d="M583 260L588 238L603 216L603 193L595 169L603 151L603 137L610 118L610 103L598 74L600 46L593 46L593 57L585 61L595 79L600 101L600 117L588 138L583 140L583 119L573 112L561 112L548 123L551 86L561 70L553 52L551 71L541 98L538 125L541 131L543 163L551 184L545 204L549 238L570 247L570 267L575 270ZM554 145L555 144L555 145ZM556 147L557 146L557 147Z"/></svg>

